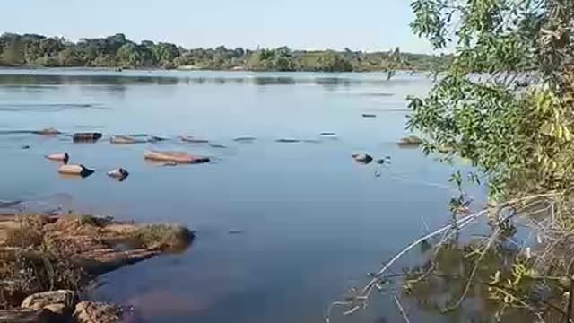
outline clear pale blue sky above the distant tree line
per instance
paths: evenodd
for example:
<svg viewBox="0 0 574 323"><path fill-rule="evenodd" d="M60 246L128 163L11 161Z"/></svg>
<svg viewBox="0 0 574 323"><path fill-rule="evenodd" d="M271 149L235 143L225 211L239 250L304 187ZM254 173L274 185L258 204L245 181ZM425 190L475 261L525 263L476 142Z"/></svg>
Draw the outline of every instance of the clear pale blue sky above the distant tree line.
<svg viewBox="0 0 574 323"><path fill-rule="evenodd" d="M0 31L77 40L123 32L184 47L430 52L410 0L2 0Z"/></svg>

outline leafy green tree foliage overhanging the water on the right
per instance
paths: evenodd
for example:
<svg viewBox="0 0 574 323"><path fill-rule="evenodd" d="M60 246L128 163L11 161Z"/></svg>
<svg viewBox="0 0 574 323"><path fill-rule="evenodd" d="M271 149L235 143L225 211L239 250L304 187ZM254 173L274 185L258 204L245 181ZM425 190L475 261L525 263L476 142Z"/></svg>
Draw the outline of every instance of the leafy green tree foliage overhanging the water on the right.
<svg viewBox="0 0 574 323"><path fill-rule="evenodd" d="M426 135L425 152L469 160L493 196L570 186L572 4L413 2L413 30L435 48L456 46L430 95L410 100L408 125Z"/></svg>

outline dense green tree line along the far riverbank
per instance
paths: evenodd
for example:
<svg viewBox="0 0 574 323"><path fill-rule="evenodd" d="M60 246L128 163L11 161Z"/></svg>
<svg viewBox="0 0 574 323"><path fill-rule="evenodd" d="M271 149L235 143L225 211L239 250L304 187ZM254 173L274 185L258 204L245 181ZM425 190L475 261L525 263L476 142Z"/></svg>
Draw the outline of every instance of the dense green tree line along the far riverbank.
<svg viewBox="0 0 574 323"><path fill-rule="evenodd" d="M85 66L123 68L183 68L250 71L391 71L442 70L450 57L388 52L272 49L195 48L143 40L137 44L124 34L74 43L36 34L4 33L0 37L0 65Z"/></svg>

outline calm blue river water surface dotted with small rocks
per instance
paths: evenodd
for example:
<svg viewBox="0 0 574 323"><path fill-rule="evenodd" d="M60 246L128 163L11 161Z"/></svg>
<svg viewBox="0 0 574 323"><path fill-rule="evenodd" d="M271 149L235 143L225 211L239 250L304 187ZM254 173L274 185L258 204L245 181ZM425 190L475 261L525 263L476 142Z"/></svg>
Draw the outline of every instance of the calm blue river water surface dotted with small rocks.
<svg viewBox="0 0 574 323"><path fill-rule="evenodd" d="M133 305L137 322L323 322L330 301L423 233L422 219L447 221L451 170L395 144L408 135L405 97L430 87L422 74L0 70L0 199L195 230L186 252L101 277L91 298ZM46 127L105 136L73 144L21 133ZM109 144L109 135L129 134L172 140ZM182 134L226 148L178 143ZM257 140L232 140L246 135ZM150 148L213 162L157 167L143 161ZM60 178L42 157L60 151L97 172ZM355 151L392 164L359 165ZM129 178L107 178L115 167ZM442 320L404 305L414 322ZM396 322L400 313L377 295L368 310L332 321Z"/></svg>

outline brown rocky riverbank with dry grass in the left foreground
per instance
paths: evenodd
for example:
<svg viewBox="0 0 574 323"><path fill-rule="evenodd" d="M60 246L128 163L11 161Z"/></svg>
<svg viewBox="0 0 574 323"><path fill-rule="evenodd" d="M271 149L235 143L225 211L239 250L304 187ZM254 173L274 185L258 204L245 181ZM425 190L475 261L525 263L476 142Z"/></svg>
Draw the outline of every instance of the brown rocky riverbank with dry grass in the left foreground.
<svg viewBox="0 0 574 323"><path fill-rule="evenodd" d="M105 321L119 321L121 310L115 305L80 302L87 286L122 266L187 249L193 239L192 231L172 224L84 214L2 214L0 302L8 310L0 310L0 318L81 322L89 321L81 317L90 310L100 315L100 308L107 308L111 319Z"/></svg>

